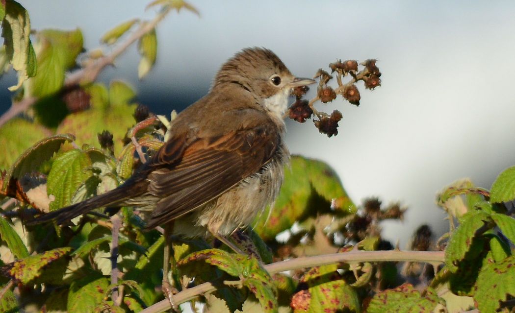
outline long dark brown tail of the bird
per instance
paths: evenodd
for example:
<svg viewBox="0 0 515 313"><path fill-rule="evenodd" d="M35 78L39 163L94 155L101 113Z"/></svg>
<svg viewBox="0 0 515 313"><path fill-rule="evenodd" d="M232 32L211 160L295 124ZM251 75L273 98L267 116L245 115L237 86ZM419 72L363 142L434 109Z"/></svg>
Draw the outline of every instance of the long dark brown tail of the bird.
<svg viewBox="0 0 515 313"><path fill-rule="evenodd" d="M98 196L91 197L71 206L67 206L59 210L43 214L37 217L36 219L28 221L26 224L42 224L50 222L50 220L55 220L57 224L62 224L66 220L72 219L84 213L88 213L89 211L94 210L96 208L119 204L120 202L123 202L124 199L134 197L142 193L140 190L134 190L140 189L137 185L137 183L124 183L118 188L115 188L106 193L102 193Z"/></svg>

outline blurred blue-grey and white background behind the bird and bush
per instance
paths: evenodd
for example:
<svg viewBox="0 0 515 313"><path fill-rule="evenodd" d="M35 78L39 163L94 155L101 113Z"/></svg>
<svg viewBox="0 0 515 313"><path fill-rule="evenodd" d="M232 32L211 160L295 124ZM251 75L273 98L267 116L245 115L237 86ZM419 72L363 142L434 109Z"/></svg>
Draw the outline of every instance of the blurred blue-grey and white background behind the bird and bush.
<svg viewBox="0 0 515 313"><path fill-rule="evenodd" d="M156 13L141 0L20 3L33 29L79 27L87 49L119 23ZM181 11L158 26L158 61L143 81L135 47L100 81L123 79L138 102L168 115L205 95L219 66L244 47L273 50L301 77L329 70L337 58L377 58L382 86L361 85L361 106L340 98L318 104L344 115L336 137L319 134L311 121L288 121L287 142L292 153L328 162L356 203L379 196L407 206L403 223L383 225L384 237L400 240L401 248L420 224L430 224L435 237L447 231L446 214L435 205L442 188L464 177L490 188L515 164L515 2L191 3L200 17ZM0 81L0 113L15 81L14 73Z"/></svg>

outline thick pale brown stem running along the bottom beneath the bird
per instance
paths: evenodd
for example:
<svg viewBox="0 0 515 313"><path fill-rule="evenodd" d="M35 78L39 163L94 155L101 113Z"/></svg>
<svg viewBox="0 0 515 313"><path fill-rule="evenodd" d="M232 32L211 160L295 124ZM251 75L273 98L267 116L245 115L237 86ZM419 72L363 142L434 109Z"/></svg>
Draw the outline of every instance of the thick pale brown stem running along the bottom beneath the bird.
<svg viewBox="0 0 515 313"><path fill-rule="evenodd" d="M353 263L353 262L424 262L424 263L443 263L444 251L359 251L353 250L345 253L332 253L315 256L303 256L296 259L280 261L265 265L265 269L270 273L279 273L305 267L313 267L334 263ZM185 289L174 296L174 303L181 304L192 300L201 294L212 292L218 287L213 282L203 283L198 286ZM168 300L162 300L153 304L141 313L159 313L170 308Z"/></svg>

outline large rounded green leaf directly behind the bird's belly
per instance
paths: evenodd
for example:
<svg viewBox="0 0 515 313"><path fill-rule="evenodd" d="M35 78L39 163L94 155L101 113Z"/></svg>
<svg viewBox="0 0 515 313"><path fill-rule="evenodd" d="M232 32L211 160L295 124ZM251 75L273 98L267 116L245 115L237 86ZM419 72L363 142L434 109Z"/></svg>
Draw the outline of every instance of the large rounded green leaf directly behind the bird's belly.
<svg viewBox="0 0 515 313"><path fill-rule="evenodd" d="M331 201L337 202L334 211ZM254 221L254 230L264 241L269 241L299 219L314 217L324 210L347 214L354 213L356 206L327 164L293 156L290 166L284 169L284 182L271 213L267 207Z"/></svg>

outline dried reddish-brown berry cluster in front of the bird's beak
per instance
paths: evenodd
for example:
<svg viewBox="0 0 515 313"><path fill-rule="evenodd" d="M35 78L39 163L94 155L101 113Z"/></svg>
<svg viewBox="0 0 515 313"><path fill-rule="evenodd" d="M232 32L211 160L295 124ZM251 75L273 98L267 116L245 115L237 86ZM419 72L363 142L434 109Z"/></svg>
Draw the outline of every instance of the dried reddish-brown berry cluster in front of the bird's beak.
<svg viewBox="0 0 515 313"><path fill-rule="evenodd" d="M343 62L337 60L329 64L331 74L320 68L314 77L319 79L315 98L309 101L302 99L307 90L309 90L307 86L297 87L291 91L291 95L296 97L296 101L289 107L289 118L303 123L315 115L317 119L313 120L313 122L320 133L328 137L337 135L338 122L341 120L342 114L338 110L334 110L331 114L318 111L314 107L315 102L318 100L322 103L332 102L336 99L337 95L341 95L349 103L358 106L361 95L355 83L363 81L366 89L374 89L377 86L381 86L381 72L375 63L375 59L366 60L361 64L358 64L356 60ZM363 66L361 70L359 70L359 65ZM332 74L334 73L336 73L336 82L338 84L335 88L328 85L329 81L333 79ZM349 81L344 83L343 80L346 77L349 77Z"/></svg>

